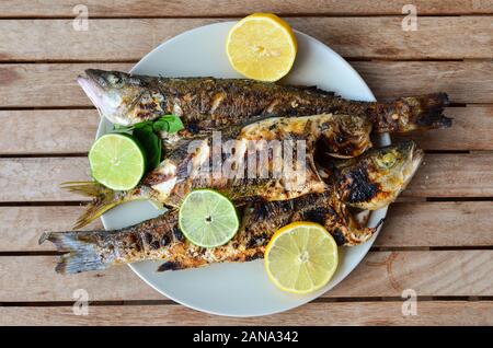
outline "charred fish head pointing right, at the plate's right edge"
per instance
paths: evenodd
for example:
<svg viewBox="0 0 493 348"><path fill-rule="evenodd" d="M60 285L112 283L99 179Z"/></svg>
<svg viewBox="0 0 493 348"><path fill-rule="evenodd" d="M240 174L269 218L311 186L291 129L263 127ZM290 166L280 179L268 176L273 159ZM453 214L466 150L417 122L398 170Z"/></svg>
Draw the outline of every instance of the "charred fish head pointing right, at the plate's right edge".
<svg viewBox="0 0 493 348"><path fill-rule="evenodd" d="M408 186L423 160L413 141L374 149L340 165L337 185L353 207L376 210L388 206Z"/></svg>

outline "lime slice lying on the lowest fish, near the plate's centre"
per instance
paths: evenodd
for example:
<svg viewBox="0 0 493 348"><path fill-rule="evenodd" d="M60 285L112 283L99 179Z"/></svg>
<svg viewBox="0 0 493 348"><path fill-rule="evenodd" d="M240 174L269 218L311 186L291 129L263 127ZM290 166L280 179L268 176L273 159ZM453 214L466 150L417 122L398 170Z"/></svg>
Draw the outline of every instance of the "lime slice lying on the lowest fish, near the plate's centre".
<svg viewBox="0 0 493 348"><path fill-rule="evenodd" d="M240 227L232 202L211 189L193 190L185 197L179 223L188 241L204 247L226 244Z"/></svg>

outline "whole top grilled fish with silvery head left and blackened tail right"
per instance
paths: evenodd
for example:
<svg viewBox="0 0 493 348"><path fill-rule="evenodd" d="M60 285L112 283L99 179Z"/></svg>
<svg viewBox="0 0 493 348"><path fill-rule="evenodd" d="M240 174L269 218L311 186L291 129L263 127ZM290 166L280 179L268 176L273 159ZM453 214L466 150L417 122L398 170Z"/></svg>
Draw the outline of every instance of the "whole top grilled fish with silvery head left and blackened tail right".
<svg viewBox="0 0 493 348"><path fill-rule="evenodd" d="M186 134L225 127L257 115L336 113L369 119L377 132L448 128L445 93L401 97L389 103L347 101L313 86L279 85L244 79L161 78L85 70L78 82L100 113L129 126L163 114L182 117Z"/></svg>

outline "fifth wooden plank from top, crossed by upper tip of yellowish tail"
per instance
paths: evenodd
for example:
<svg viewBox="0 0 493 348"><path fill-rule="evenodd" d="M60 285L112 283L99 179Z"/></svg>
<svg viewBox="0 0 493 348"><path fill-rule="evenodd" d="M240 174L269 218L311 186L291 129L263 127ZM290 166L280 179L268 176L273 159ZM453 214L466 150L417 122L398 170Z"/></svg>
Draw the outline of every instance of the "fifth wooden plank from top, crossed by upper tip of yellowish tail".
<svg viewBox="0 0 493 348"><path fill-rule="evenodd" d="M427 154L403 197L491 197L493 154ZM87 158L0 159L0 201L79 201L58 184L89 179Z"/></svg>

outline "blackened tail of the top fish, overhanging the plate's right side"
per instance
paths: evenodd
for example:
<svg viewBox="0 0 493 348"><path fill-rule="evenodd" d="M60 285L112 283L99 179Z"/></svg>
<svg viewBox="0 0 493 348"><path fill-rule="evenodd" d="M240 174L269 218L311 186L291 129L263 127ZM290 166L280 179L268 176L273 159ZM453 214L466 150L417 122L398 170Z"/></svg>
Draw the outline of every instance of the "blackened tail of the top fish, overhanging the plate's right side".
<svg viewBox="0 0 493 348"><path fill-rule="evenodd" d="M449 98L446 93L401 97L385 104L377 103L372 115L374 130L408 132L449 128L452 119L443 114L448 104Z"/></svg>

